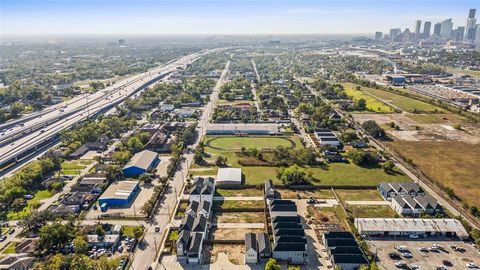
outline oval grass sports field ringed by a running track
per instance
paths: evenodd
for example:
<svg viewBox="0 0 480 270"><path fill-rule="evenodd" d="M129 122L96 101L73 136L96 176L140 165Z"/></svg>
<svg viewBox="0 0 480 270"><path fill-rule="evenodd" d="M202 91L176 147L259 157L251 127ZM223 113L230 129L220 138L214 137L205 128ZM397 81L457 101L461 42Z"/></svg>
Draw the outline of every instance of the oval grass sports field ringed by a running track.
<svg viewBox="0 0 480 270"><path fill-rule="evenodd" d="M287 147L301 147L301 142L296 136L292 137L233 137L233 136L207 136L205 144L209 148L218 150L231 150L245 148L274 149L282 145Z"/></svg>

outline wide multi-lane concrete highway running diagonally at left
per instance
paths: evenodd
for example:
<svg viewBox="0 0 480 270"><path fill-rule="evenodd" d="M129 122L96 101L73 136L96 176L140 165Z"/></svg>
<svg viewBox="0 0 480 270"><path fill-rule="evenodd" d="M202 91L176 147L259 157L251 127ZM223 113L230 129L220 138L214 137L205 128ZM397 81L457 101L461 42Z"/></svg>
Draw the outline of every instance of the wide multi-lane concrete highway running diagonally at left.
<svg viewBox="0 0 480 270"><path fill-rule="evenodd" d="M104 112L177 68L193 63L214 50L203 50L137 74L93 94L81 95L41 112L0 125L0 169L35 155L55 141L60 131Z"/></svg>

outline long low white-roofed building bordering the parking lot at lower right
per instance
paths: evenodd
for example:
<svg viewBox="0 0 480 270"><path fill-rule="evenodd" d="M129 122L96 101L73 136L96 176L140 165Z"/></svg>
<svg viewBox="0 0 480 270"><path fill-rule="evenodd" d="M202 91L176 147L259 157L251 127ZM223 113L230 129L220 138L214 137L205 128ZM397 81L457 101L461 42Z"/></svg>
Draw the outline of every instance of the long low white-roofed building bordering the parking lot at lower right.
<svg viewBox="0 0 480 270"><path fill-rule="evenodd" d="M456 219L420 218L356 218L355 227L361 235L420 237L458 237L468 239L462 223Z"/></svg>

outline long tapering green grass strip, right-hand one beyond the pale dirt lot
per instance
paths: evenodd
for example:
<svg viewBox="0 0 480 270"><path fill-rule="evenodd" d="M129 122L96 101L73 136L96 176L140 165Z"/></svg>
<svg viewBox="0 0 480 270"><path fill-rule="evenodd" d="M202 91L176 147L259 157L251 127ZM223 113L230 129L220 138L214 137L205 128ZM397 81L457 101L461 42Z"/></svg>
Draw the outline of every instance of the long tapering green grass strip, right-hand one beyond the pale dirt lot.
<svg viewBox="0 0 480 270"><path fill-rule="evenodd" d="M345 86L345 89L354 89L356 87L355 84L350 84L350 83L345 83L344 86ZM358 92L357 90L354 90L354 91ZM413 99L413 98L410 98L410 97L397 95L397 94L394 94L394 93L390 93L390 92L375 89L375 88L362 86L360 91L363 91L364 93L369 93L369 94L375 96L376 98L378 98L380 100L384 100L388 103L391 103L393 106L396 106L396 107L400 108L401 110L407 111L407 112L413 112L414 110L416 110L416 112L426 112L426 113L445 112L445 110L443 110L442 108L437 107L435 105L431 105L431 104L428 104L426 102L419 101L419 100L416 100L416 99ZM364 95L366 95L366 94L364 94ZM371 98L373 98L373 97L371 97ZM375 99L375 98L373 98L373 99ZM382 102L378 99L375 99L375 100L377 100L378 102ZM367 107L368 107L368 101L367 101Z"/></svg>

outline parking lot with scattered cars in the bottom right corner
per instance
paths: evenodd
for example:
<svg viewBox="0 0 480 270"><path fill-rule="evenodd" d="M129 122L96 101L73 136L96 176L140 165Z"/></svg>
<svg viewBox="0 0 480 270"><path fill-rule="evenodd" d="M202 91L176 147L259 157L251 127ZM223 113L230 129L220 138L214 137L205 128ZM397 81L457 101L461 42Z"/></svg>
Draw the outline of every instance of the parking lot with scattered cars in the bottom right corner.
<svg viewBox="0 0 480 270"><path fill-rule="evenodd" d="M471 243L461 241L445 241L445 240L372 240L369 241L372 252L377 251L380 262L380 269L397 269L395 262L402 260L406 262L405 269L412 269L417 265L418 269L437 269L439 266L445 266L446 269L468 269L466 264L474 262L480 265L480 254L475 250ZM438 251L428 251L433 245L441 247ZM452 245L457 245L465 249L465 251L454 251ZM412 258L405 258L401 255L401 259L391 259L389 254L395 252L400 255L400 251L395 247L404 246L411 253ZM427 248L427 251L419 251L419 248ZM450 264L448 263L450 262Z"/></svg>

